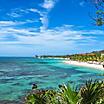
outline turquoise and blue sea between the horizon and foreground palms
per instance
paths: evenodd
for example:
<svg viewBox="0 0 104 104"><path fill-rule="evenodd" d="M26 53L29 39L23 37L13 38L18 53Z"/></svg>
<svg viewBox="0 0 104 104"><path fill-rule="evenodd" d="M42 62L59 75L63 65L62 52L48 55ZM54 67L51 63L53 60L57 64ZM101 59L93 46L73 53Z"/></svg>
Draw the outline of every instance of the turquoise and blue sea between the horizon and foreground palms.
<svg viewBox="0 0 104 104"><path fill-rule="evenodd" d="M19 100L33 83L42 89L57 89L68 81L75 87L86 80L103 80L104 71L65 64L59 59L0 58L0 100Z"/></svg>

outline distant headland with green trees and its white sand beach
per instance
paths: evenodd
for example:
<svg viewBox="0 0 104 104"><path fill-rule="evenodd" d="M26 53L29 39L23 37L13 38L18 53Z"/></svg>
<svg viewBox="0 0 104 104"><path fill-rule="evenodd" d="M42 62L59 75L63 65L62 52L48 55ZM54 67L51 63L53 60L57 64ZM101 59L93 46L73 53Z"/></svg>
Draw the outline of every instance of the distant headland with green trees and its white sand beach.
<svg viewBox="0 0 104 104"><path fill-rule="evenodd" d="M104 70L104 50L93 51L90 53L72 54L72 55L43 55L36 58L65 59L66 64L85 66Z"/></svg>

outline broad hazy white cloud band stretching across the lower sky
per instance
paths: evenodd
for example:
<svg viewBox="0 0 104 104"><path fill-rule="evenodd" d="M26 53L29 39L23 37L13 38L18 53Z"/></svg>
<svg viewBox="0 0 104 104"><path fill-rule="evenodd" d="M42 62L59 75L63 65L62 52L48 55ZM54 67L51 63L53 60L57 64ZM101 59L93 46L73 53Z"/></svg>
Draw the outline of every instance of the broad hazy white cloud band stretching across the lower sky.
<svg viewBox="0 0 104 104"><path fill-rule="evenodd" d="M34 28L15 28L1 27L0 28L0 46L1 45L14 45L17 47L27 46L36 48L37 50L45 49L54 52L57 49L57 53L61 50L72 50L81 46L91 46L98 42L98 37L104 35L104 31L101 30L76 30L73 25L63 25L53 29L46 29L42 32L36 32ZM14 36L17 39L14 41L9 40L6 36ZM8 39L5 39L8 38ZM6 40L6 41L3 41ZM102 42L102 41L101 41ZM101 43L100 42L100 43ZM100 44L99 43L99 44ZM32 46L33 45L33 46Z"/></svg>

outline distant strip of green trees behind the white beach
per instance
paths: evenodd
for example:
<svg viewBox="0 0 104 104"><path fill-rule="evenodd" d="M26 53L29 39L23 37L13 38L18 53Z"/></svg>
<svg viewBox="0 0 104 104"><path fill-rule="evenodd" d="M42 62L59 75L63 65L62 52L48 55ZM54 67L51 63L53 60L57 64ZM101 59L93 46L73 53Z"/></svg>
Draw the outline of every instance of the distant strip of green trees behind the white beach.
<svg viewBox="0 0 104 104"><path fill-rule="evenodd" d="M84 54L73 54L73 55L65 55L65 56L41 56L41 58L68 58L74 61L96 61L102 63L104 61L104 50L102 51L94 51L91 53Z"/></svg>

